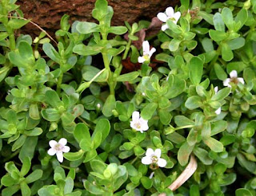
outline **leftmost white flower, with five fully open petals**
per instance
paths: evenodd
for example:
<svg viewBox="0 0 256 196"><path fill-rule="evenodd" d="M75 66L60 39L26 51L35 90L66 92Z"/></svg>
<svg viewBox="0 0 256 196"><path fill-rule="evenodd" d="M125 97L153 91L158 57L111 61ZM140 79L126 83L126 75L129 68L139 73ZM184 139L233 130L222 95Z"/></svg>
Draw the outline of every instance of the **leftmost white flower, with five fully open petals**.
<svg viewBox="0 0 256 196"><path fill-rule="evenodd" d="M63 162L63 152L70 151L70 147L66 146L67 140L65 138L59 139L58 142L55 140L50 140L49 145L50 149L48 150L48 154L53 156L57 155L57 159L60 163Z"/></svg>

